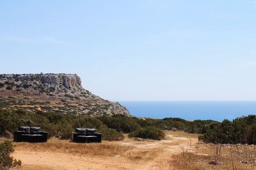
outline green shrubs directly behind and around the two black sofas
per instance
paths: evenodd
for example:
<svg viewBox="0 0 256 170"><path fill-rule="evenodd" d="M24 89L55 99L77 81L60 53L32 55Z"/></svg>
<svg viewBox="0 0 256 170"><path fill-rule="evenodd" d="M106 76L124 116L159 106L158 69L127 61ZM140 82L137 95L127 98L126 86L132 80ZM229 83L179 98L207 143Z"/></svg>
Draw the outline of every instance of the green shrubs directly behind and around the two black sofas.
<svg viewBox="0 0 256 170"><path fill-rule="evenodd" d="M45 113L42 111L29 112L24 110L0 110L0 134L8 136L19 126L40 126L52 136L60 139L70 139L76 127L95 128L102 132L102 139L118 140L123 134L110 129L105 124L93 117L64 115L58 113Z"/></svg>

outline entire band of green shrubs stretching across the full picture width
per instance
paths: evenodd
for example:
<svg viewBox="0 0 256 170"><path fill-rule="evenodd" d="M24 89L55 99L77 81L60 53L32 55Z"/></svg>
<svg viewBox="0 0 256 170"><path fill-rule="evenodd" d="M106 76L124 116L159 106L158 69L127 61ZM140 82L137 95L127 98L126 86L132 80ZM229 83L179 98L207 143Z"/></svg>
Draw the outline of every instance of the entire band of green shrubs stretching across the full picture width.
<svg viewBox="0 0 256 170"><path fill-rule="evenodd" d="M136 118L124 115L112 117L88 117L61 113L25 110L0 110L0 135L10 136L20 125L40 126L49 137L70 139L76 127L95 128L102 132L102 139L122 140L123 133L131 138L163 139L163 130L181 130L202 134L199 139L206 143L256 144L256 116L223 120L186 121L181 118Z"/></svg>

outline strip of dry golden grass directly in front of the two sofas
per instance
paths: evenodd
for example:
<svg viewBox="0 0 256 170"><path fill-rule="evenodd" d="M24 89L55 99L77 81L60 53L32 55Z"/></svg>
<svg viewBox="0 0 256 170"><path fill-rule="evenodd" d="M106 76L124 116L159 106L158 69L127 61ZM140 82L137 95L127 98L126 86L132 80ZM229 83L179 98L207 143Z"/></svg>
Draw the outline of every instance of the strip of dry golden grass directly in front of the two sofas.
<svg viewBox="0 0 256 170"><path fill-rule="evenodd" d="M118 145L108 141L102 143L72 143L68 140L51 138L47 143L13 143L15 151L58 152L73 155L124 156L131 146Z"/></svg>

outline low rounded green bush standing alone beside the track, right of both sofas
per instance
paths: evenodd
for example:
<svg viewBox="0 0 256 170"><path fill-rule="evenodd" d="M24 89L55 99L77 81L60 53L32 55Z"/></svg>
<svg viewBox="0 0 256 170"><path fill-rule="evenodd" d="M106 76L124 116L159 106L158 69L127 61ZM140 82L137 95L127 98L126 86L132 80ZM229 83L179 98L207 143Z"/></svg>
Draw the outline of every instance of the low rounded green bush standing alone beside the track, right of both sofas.
<svg viewBox="0 0 256 170"><path fill-rule="evenodd" d="M161 129L158 129L157 127L148 126L142 127L134 132L131 132L129 134L129 137L161 140L164 138L164 132L161 131Z"/></svg>

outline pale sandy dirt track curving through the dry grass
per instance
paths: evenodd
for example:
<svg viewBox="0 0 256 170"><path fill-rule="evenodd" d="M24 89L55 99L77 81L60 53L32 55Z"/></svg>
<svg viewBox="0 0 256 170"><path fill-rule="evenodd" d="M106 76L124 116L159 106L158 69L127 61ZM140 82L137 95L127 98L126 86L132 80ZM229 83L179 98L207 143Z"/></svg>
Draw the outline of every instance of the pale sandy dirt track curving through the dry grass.
<svg viewBox="0 0 256 170"><path fill-rule="evenodd" d="M74 153L24 150L17 147L15 159L22 161L19 169L172 169L170 159L182 148L194 150L197 136L184 132L167 131L161 141L135 141L125 137L124 141L106 142L131 146L124 155L76 155ZM103 142L104 143L104 142ZM60 143L61 145L61 143Z"/></svg>

